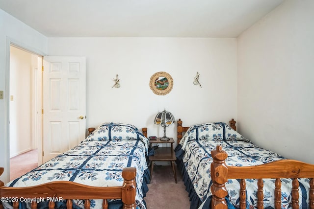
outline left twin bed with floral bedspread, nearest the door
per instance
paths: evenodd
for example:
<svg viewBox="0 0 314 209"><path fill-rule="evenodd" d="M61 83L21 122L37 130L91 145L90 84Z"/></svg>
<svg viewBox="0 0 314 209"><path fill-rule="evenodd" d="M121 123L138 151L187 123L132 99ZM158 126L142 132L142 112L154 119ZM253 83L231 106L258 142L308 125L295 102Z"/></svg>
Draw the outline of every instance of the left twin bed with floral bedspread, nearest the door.
<svg viewBox="0 0 314 209"><path fill-rule="evenodd" d="M146 209L148 147L135 126L104 123L62 155L0 182L0 208Z"/></svg>

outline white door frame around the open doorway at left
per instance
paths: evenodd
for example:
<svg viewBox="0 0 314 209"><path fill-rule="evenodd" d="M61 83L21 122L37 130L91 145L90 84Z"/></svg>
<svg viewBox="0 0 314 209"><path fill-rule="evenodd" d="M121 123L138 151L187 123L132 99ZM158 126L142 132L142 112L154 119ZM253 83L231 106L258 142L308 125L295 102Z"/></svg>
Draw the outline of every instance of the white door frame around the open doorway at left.
<svg viewBox="0 0 314 209"><path fill-rule="evenodd" d="M6 95L6 103L5 103L5 107L4 107L4 146L6 147L6 153L5 153L5 157L6 157L6 169L4 169L5 172L5 176L7 177L7 179L3 179L5 182L9 182L10 179L10 115L9 115L9 111L10 111L10 99L9 99L9 93L10 93L10 46L14 46L17 48L20 48L22 50L26 50L30 53L36 54L38 56L46 56L45 53L43 53L42 51L31 47L31 46L27 46L24 43L21 43L19 41L16 41L10 37L7 37L6 39L6 59L5 59L5 94ZM42 79L40 78L40 83L42 83ZM40 99L42 99L42 94L41 94L41 87L39 87L39 91L40 93L38 93ZM41 102L38 104L41 108ZM39 107L38 107L39 108ZM40 120L40 124L41 124ZM40 127L41 130L41 127ZM38 158L38 163L42 162L42 136L38 137L38 141L37 141L37 145L38 145L38 157L40 155L40 158ZM39 150L40 149L40 150Z"/></svg>

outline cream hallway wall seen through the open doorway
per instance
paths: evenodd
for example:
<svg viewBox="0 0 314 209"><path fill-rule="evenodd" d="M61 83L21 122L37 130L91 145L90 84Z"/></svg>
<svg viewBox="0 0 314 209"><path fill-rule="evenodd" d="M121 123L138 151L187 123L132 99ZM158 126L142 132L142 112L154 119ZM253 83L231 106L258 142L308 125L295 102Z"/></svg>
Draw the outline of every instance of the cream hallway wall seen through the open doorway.
<svg viewBox="0 0 314 209"><path fill-rule="evenodd" d="M31 54L10 48L10 157L31 150Z"/></svg>

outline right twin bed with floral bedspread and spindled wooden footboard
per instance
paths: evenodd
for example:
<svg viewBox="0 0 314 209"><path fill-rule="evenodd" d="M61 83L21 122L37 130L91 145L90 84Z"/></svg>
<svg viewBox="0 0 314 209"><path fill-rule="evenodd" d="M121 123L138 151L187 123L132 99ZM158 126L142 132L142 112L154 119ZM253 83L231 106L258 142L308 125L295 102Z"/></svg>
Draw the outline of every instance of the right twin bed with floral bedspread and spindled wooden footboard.
<svg viewBox="0 0 314 209"><path fill-rule="evenodd" d="M314 165L252 144L235 131L233 119L230 126L177 124L176 163L190 209L314 209Z"/></svg>

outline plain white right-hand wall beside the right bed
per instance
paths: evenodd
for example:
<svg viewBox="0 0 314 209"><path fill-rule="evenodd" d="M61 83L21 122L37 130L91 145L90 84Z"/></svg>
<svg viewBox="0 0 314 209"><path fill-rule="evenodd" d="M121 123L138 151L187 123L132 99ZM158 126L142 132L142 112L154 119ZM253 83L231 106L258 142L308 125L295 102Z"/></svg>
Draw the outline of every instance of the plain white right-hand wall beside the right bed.
<svg viewBox="0 0 314 209"><path fill-rule="evenodd" d="M314 1L287 0L238 37L238 130L314 163Z"/></svg>

